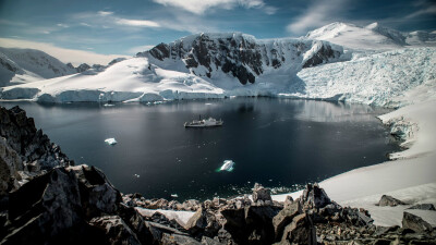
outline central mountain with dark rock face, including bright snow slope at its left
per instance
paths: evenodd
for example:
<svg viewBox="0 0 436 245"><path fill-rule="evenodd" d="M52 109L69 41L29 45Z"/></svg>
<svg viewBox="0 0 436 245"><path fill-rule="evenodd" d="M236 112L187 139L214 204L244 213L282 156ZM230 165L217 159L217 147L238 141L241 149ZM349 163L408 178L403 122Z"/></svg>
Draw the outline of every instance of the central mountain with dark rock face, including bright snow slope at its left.
<svg viewBox="0 0 436 245"><path fill-rule="evenodd" d="M160 44L100 73L7 87L1 98L63 102L276 95L300 89L294 76L302 69L346 58L342 47L320 40L199 34Z"/></svg>

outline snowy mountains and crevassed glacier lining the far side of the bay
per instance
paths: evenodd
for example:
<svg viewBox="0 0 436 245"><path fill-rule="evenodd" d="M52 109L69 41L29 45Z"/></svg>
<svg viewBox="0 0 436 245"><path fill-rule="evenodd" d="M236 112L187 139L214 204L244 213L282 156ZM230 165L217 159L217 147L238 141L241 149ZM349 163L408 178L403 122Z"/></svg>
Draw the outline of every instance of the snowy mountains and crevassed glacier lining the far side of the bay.
<svg viewBox="0 0 436 245"><path fill-rule="evenodd" d="M436 77L435 36L377 23L332 23L300 38L202 33L108 66L65 64L63 74L50 73L60 77L0 88L0 98L68 102L274 96L383 106ZM20 71L16 63L3 69Z"/></svg>

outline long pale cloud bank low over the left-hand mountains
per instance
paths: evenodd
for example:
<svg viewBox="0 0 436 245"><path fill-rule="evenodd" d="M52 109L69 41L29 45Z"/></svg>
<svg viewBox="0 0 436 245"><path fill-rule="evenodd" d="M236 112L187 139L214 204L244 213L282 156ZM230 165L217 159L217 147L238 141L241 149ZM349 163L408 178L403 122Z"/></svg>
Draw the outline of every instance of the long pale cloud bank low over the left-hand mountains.
<svg viewBox="0 0 436 245"><path fill-rule="evenodd" d="M64 63L71 62L75 66L85 62L88 64L107 64L116 58L128 58L126 56L121 54L100 54L84 50L64 49L56 47L52 44L28 41L14 38L0 38L0 47L38 49L47 52L48 54L59 59Z"/></svg>

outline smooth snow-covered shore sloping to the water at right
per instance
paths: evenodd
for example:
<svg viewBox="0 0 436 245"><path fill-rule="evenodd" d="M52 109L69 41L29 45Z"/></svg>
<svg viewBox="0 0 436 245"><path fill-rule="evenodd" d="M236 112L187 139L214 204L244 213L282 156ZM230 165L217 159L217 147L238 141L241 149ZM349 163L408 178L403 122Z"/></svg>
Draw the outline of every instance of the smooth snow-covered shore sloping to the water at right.
<svg viewBox="0 0 436 245"><path fill-rule="evenodd" d="M331 199L344 207L367 209L375 220L374 224L384 226L401 225L403 211L412 205L436 204L436 100L434 95L424 100L427 101L379 117L383 123L390 125L391 131L403 133L401 146L407 146L407 149L392 154L391 161L354 169L322 181L319 186ZM272 199L282 201L287 195L298 198L301 191L275 195ZM391 195L408 205L378 207L375 204L382 195Z"/></svg>

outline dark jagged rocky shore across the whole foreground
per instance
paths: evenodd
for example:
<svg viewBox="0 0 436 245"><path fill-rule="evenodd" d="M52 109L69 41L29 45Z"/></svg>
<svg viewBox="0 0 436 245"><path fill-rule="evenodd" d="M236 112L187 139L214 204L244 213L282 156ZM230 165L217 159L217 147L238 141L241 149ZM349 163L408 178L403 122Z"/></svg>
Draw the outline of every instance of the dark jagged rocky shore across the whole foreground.
<svg viewBox="0 0 436 245"><path fill-rule="evenodd" d="M422 218L405 211L402 228L376 226L317 184L284 203L259 184L251 198L204 203L122 195L100 170L74 166L17 107L0 108L0 244L436 244ZM195 213L183 222L150 209Z"/></svg>

